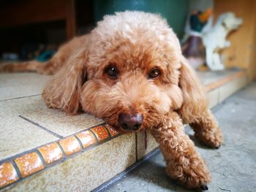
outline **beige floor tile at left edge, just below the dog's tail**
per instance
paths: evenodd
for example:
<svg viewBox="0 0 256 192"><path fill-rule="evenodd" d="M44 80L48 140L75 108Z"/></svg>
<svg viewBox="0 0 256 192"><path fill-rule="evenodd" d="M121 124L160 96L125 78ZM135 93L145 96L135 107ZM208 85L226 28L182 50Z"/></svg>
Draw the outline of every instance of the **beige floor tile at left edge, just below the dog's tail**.
<svg viewBox="0 0 256 192"><path fill-rule="evenodd" d="M50 76L34 73L0 74L0 101L41 94Z"/></svg>

